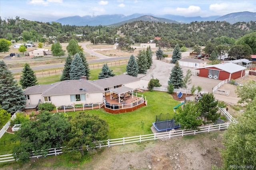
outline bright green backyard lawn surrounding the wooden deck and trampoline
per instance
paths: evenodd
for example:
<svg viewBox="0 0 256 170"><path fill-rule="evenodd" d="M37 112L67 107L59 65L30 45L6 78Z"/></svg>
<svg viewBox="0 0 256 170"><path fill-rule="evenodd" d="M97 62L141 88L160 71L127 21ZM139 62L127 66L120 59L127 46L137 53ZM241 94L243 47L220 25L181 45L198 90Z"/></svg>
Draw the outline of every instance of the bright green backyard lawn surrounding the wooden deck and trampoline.
<svg viewBox="0 0 256 170"><path fill-rule="evenodd" d="M152 133L152 123L156 120L156 115L160 113L170 113L174 115L173 107L180 102L175 101L172 96L166 92L152 91L143 93L148 100L148 106L141 107L133 112L110 114L104 109L88 110L85 113L99 115L109 125L110 138L121 138L128 136L137 136L142 134L141 121L144 124L144 134ZM74 117L77 112L67 112Z"/></svg>

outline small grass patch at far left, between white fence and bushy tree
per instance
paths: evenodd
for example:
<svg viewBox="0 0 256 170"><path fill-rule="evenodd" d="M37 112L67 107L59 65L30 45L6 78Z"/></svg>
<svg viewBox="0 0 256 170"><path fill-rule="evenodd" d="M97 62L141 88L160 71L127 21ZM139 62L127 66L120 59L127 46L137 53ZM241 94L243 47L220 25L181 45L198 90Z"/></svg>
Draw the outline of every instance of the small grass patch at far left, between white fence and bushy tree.
<svg viewBox="0 0 256 170"><path fill-rule="evenodd" d="M19 142L11 140L14 134L4 133L4 135L0 138L0 155L11 154L14 146ZM4 144L5 141L5 144Z"/></svg>

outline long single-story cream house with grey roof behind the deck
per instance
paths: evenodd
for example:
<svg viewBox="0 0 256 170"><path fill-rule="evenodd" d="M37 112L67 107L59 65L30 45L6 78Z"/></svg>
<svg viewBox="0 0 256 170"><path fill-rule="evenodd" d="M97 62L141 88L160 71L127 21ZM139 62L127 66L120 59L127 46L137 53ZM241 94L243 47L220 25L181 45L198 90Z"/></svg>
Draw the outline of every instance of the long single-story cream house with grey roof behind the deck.
<svg viewBox="0 0 256 170"><path fill-rule="evenodd" d="M48 85L34 85L24 90L26 108L38 103L51 102L55 106L102 103L110 91L131 91L140 84L140 79L130 75L117 75L95 81L65 80Z"/></svg>

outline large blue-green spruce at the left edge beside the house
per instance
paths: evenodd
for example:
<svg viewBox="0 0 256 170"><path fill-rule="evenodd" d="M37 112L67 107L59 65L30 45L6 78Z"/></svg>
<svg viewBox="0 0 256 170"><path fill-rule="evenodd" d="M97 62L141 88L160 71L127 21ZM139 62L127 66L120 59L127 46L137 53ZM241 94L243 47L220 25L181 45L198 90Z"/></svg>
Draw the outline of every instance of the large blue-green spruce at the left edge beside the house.
<svg viewBox="0 0 256 170"><path fill-rule="evenodd" d="M8 113L14 114L24 109L26 99L17 81L14 81L12 72L7 69L4 61L0 61L0 105Z"/></svg>

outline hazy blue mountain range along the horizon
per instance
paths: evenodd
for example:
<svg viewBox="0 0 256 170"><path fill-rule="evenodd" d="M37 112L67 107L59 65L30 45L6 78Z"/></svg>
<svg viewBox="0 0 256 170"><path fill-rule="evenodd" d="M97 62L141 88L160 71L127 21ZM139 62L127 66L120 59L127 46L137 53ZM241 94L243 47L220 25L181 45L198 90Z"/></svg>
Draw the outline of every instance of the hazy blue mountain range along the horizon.
<svg viewBox="0 0 256 170"><path fill-rule="evenodd" d="M75 25L75 26L119 26L125 23L130 23L138 20L150 21L150 22L166 22L166 23L190 23L201 21L226 21L230 24L236 22L250 22L256 21L256 12L235 12L224 16L210 16L206 18L198 17L184 17L165 14L161 16L155 16L153 14L132 14L124 16L122 14L113 15L99 15L99 16L70 16L60 18L55 22L59 22L62 25Z"/></svg>

